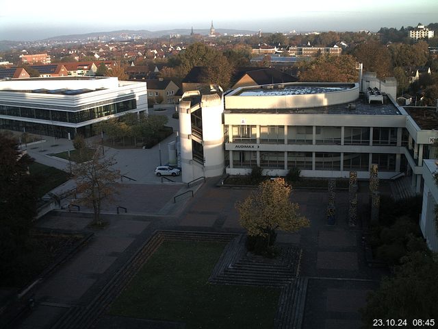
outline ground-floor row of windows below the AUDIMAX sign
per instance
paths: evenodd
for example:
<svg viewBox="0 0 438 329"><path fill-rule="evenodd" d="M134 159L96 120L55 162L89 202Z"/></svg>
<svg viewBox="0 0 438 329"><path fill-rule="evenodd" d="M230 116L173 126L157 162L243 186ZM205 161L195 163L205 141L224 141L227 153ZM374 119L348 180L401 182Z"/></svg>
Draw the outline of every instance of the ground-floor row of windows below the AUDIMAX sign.
<svg viewBox="0 0 438 329"><path fill-rule="evenodd" d="M260 151L259 166L264 169L312 170L312 152ZM370 154L344 153L344 170L368 171ZM396 154L372 154L372 163L378 164L381 171L396 171ZM251 168L257 165L257 151L233 151L233 168ZM315 152L316 170L341 170L341 154L333 152Z"/></svg>

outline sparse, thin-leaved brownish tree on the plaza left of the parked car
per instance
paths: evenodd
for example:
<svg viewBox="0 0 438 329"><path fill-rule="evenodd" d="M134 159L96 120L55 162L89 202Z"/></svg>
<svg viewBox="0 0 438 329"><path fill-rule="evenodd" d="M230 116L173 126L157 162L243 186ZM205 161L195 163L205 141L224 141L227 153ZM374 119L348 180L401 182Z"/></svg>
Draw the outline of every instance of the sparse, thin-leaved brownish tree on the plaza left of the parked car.
<svg viewBox="0 0 438 329"><path fill-rule="evenodd" d="M111 200L117 191L120 171L113 169L116 161L112 157L104 158L97 149L92 159L74 164L72 173L76 181L77 202L93 208L93 223L101 226L101 206L105 199Z"/></svg>

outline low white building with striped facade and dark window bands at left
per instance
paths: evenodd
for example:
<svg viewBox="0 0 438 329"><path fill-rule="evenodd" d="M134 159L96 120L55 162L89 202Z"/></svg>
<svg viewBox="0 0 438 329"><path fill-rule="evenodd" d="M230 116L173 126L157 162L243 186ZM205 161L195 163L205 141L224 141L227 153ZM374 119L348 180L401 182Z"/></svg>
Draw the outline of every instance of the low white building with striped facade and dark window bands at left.
<svg viewBox="0 0 438 329"><path fill-rule="evenodd" d="M145 82L118 81L117 77L0 81L0 129L88 137L95 123L147 111Z"/></svg>

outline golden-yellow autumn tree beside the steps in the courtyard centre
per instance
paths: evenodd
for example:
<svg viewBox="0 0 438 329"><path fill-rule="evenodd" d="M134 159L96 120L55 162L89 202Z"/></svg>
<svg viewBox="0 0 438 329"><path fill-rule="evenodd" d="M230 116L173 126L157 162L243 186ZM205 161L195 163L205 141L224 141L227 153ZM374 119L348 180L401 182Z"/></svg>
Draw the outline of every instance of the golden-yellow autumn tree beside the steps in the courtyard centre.
<svg viewBox="0 0 438 329"><path fill-rule="evenodd" d="M298 214L298 204L290 202L292 187L283 178L262 182L257 191L237 202L240 225L248 230L248 247L259 254L270 252L275 230L296 232L309 226L309 220ZM251 246L251 244L253 246Z"/></svg>

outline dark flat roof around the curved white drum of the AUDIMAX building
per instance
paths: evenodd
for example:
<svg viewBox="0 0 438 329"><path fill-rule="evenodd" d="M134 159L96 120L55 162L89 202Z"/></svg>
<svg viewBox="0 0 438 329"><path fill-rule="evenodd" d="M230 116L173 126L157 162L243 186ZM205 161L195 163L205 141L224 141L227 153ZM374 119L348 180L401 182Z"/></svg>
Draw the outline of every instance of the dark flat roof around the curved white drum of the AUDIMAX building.
<svg viewBox="0 0 438 329"><path fill-rule="evenodd" d="M227 99L225 99L227 101ZM351 104L351 105L350 105ZM365 95L348 103L315 108L226 109L226 113L283 113L283 114L353 114L353 115L402 115L389 99L385 103L368 103Z"/></svg>

